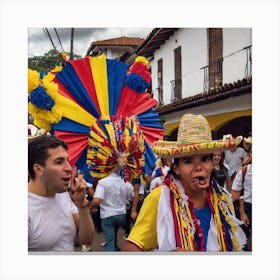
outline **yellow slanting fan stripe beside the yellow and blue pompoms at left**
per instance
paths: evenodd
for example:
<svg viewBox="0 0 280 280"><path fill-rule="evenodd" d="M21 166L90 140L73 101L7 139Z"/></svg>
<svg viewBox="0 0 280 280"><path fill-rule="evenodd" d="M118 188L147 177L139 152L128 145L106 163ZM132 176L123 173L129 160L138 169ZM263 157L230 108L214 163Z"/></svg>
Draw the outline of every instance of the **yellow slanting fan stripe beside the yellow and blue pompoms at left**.
<svg viewBox="0 0 280 280"><path fill-rule="evenodd" d="M63 116L77 123L90 127L95 121L95 117L89 114L77 103L62 95L56 95L55 105L57 106L57 109L62 112Z"/></svg>

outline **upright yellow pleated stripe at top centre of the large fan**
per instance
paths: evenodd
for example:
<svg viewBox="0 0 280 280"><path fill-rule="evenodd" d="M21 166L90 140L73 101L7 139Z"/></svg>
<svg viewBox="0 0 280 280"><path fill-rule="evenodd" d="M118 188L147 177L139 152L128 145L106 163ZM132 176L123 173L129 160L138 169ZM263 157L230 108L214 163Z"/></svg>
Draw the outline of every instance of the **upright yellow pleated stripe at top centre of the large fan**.
<svg viewBox="0 0 280 280"><path fill-rule="evenodd" d="M92 78L94 80L96 96L99 103L100 113L109 117L107 63L104 54L97 57L89 57Z"/></svg>

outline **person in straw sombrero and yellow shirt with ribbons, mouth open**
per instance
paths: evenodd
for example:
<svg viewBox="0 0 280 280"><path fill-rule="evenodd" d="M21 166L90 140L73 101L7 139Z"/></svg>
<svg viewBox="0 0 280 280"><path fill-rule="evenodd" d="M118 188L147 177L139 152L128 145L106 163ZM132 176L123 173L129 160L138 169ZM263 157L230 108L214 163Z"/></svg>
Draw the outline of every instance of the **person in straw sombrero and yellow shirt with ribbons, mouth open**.
<svg viewBox="0 0 280 280"><path fill-rule="evenodd" d="M207 120L186 114L177 142L153 143L158 156L174 162L164 184L146 197L124 250L242 251L242 222L235 217L229 193L211 178L210 158L241 141L241 136L212 140Z"/></svg>

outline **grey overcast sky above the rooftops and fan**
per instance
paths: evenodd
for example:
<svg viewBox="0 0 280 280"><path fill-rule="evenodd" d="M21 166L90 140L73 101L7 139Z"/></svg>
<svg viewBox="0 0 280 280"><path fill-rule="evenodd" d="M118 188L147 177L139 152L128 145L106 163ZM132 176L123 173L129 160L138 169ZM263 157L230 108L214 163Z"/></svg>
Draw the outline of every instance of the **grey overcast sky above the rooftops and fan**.
<svg viewBox="0 0 280 280"><path fill-rule="evenodd" d="M94 41L116 38L120 36L146 38L152 28L75 28L73 51L77 55L85 56L90 44ZM70 52L71 28L48 28L55 47ZM28 29L28 56L43 55L53 49L51 40L44 28Z"/></svg>

